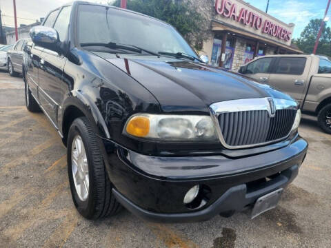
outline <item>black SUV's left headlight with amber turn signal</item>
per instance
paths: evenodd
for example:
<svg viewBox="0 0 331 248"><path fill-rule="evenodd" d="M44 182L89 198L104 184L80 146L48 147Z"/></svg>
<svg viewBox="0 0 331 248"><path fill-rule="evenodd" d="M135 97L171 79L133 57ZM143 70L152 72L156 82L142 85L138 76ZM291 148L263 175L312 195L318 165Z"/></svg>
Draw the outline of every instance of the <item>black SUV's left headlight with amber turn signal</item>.
<svg viewBox="0 0 331 248"><path fill-rule="evenodd" d="M217 141L210 116L135 114L123 133L161 141Z"/></svg>

